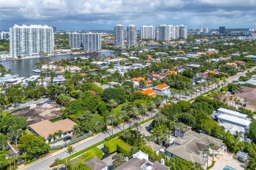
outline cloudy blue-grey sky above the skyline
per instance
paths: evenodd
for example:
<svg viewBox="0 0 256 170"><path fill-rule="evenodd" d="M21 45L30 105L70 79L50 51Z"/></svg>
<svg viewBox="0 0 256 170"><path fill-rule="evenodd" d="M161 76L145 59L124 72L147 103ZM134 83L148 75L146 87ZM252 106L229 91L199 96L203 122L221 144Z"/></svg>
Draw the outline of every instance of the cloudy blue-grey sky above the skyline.
<svg viewBox="0 0 256 170"><path fill-rule="evenodd" d="M1 0L0 30L46 24L57 30L112 30L116 24L256 28L256 0Z"/></svg>

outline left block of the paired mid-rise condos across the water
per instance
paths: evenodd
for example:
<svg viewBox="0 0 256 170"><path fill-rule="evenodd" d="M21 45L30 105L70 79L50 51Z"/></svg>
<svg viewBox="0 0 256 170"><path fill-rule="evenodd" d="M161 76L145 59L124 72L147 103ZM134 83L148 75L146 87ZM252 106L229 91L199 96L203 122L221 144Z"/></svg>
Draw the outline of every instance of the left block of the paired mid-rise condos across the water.
<svg viewBox="0 0 256 170"><path fill-rule="evenodd" d="M71 48L83 48L83 34L82 33L69 33L68 46Z"/></svg>

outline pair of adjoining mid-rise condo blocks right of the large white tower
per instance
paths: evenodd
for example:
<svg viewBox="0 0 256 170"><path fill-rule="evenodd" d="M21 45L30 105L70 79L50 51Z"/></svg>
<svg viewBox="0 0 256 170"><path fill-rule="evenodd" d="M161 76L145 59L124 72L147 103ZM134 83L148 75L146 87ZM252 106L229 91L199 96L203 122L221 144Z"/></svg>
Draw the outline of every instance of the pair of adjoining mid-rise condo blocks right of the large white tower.
<svg viewBox="0 0 256 170"><path fill-rule="evenodd" d="M83 48L85 51L101 50L100 33L69 33L68 46L71 48Z"/></svg>

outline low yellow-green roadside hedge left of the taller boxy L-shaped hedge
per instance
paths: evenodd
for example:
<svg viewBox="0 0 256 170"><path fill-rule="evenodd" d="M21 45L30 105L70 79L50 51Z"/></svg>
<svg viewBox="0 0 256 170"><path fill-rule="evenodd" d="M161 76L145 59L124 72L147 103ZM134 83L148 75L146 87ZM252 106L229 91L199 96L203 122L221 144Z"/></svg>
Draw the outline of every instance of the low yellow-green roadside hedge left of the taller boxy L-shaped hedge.
<svg viewBox="0 0 256 170"><path fill-rule="evenodd" d="M85 152L83 155L72 159L71 164L79 164L79 163L84 163L86 160L91 159L94 156L97 156L99 159L102 159L103 151L100 150L99 148L93 148L87 152Z"/></svg>

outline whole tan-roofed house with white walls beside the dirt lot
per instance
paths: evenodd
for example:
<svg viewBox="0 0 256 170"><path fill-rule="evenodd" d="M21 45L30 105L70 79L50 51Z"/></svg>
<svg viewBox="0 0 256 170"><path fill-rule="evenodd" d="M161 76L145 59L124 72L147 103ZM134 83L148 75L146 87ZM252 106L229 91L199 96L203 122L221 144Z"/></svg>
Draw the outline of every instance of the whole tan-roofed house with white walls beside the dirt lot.
<svg viewBox="0 0 256 170"><path fill-rule="evenodd" d="M29 125L29 131L34 133L37 136L41 136L44 138L45 142L55 141L55 139L60 139L71 135L74 129L75 122L71 121L69 118L65 120L51 122L49 120L44 120L41 122L37 122ZM49 138L50 134L54 134L55 132L61 130L62 132L57 137Z"/></svg>

